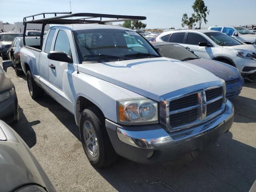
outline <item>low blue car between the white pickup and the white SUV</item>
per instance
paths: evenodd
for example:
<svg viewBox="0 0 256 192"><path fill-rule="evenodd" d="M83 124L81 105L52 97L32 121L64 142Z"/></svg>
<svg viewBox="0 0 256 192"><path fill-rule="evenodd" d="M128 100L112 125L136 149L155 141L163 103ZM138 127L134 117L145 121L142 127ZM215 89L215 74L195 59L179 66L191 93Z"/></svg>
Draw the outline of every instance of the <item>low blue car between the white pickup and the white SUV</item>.
<svg viewBox="0 0 256 192"><path fill-rule="evenodd" d="M161 56L181 60L197 66L200 66L226 82L226 98L238 96L244 84L244 78L239 70L228 64L199 58L194 53L176 43L169 42L151 42Z"/></svg>

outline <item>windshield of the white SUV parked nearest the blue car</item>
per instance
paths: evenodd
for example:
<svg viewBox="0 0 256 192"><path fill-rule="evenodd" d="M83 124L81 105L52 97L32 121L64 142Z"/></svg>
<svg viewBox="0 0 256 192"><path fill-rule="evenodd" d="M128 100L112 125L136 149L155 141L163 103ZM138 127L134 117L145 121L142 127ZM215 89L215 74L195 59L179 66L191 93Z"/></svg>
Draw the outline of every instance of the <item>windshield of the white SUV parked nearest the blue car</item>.
<svg viewBox="0 0 256 192"><path fill-rule="evenodd" d="M235 40L234 38L222 32L207 32L205 34L220 46L242 45L242 43L240 43L238 40Z"/></svg>

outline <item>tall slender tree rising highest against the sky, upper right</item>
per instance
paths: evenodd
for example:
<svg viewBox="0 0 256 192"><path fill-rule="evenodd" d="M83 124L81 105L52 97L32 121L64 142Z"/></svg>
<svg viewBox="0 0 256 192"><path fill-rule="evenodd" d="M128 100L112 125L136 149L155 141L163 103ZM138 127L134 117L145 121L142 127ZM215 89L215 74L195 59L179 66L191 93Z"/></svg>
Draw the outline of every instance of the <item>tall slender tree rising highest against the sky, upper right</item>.
<svg viewBox="0 0 256 192"><path fill-rule="evenodd" d="M199 23L199 29L201 29L202 22L204 21L205 24L208 22L206 16L209 15L209 10L204 4L204 0L195 0L192 8L195 12L194 19Z"/></svg>

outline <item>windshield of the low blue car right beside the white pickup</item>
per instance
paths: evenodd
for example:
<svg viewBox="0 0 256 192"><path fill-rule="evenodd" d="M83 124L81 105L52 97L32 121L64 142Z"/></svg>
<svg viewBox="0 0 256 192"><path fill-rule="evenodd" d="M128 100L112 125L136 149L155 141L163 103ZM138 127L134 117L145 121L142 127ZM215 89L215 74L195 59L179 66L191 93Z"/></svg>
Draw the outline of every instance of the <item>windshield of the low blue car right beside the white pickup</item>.
<svg viewBox="0 0 256 192"><path fill-rule="evenodd" d="M160 45L156 46L159 48L159 53L163 57L168 57L177 60L193 60L198 59L198 56L182 47L181 45Z"/></svg>

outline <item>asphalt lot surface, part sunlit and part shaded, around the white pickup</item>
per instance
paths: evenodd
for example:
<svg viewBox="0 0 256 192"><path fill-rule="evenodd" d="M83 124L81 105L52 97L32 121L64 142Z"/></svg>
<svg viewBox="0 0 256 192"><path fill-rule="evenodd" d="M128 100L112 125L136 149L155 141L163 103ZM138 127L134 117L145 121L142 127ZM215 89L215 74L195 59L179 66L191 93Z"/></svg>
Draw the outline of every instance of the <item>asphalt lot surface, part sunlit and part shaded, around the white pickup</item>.
<svg viewBox="0 0 256 192"><path fill-rule="evenodd" d="M2 61L0 61L1 63ZM230 132L196 158L186 154L167 164L140 165L121 159L104 170L88 162L74 116L50 96L32 100L26 76L8 75L15 84L20 121L10 124L61 192L248 192L256 180L256 82L246 82L231 101Z"/></svg>

